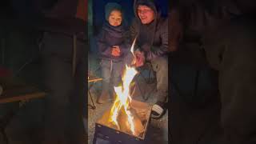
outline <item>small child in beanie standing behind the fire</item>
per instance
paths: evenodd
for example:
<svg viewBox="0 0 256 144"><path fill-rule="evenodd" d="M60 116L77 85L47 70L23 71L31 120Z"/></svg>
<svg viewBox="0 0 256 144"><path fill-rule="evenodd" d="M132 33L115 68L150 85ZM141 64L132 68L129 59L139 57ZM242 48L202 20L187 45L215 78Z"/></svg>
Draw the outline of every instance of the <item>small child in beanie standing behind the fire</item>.
<svg viewBox="0 0 256 144"><path fill-rule="evenodd" d="M98 103L110 100L110 90L118 86L121 80L122 60L128 52L125 42L125 30L122 25L122 7L114 2L105 6L106 23L98 37L98 51L102 59L102 94ZM113 85L110 85L112 81Z"/></svg>

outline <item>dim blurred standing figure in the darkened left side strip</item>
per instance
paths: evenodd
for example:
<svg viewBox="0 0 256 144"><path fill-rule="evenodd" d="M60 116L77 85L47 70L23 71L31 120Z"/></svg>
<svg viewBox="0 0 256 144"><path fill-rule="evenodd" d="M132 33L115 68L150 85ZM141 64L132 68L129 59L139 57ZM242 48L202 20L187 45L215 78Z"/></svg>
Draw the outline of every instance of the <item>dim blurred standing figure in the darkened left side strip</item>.
<svg viewBox="0 0 256 144"><path fill-rule="evenodd" d="M86 142L82 122L86 102L85 6L85 0L62 0L46 12L42 63L49 95L43 144Z"/></svg>

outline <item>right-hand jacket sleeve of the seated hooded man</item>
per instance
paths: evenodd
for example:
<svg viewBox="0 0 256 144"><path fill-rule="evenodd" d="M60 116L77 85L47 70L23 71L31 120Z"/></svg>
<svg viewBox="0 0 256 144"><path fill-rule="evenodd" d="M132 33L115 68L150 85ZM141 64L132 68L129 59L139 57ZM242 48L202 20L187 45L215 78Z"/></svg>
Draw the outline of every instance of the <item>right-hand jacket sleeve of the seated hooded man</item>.
<svg viewBox="0 0 256 144"><path fill-rule="evenodd" d="M160 38L161 46L151 46L151 48L148 44L142 46L142 49L146 50L147 60L151 60L168 53L168 19L163 22L160 28Z"/></svg>

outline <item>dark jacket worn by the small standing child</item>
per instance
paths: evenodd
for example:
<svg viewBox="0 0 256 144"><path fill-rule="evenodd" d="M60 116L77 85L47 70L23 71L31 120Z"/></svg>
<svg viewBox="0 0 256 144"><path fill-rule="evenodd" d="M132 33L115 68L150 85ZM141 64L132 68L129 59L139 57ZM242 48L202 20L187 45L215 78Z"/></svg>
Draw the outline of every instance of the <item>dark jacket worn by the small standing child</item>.
<svg viewBox="0 0 256 144"><path fill-rule="evenodd" d="M110 26L106 22L102 26L102 31L98 35L97 45L100 58L121 61L127 54L129 50L128 44L126 44L126 30L121 26ZM121 55L119 57L114 57L111 54L112 46L119 46Z"/></svg>

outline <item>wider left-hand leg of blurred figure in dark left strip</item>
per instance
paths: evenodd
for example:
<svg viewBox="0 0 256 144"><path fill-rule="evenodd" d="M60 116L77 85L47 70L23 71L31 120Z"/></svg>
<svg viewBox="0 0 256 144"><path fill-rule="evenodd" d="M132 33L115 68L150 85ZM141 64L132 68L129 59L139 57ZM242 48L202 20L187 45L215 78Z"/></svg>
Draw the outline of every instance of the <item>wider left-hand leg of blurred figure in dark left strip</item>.
<svg viewBox="0 0 256 144"><path fill-rule="evenodd" d="M46 92L45 144L65 143L69 97L73 89L72 38L46 34L42 48Z"/></svg>

